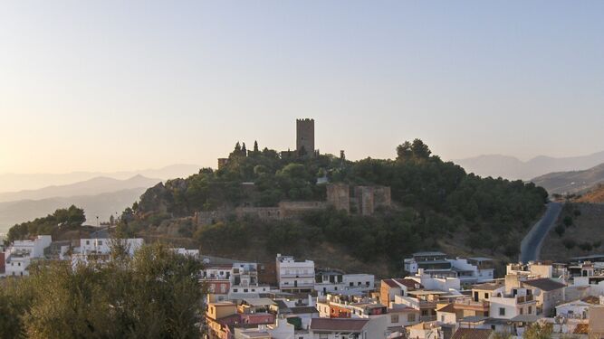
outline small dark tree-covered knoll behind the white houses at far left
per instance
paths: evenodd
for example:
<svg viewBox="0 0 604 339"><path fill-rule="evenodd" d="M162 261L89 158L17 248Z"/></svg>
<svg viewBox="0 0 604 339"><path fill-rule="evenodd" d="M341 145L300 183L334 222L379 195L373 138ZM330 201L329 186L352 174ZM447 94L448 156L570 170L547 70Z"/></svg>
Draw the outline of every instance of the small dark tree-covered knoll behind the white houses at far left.
<svg viewBox="0 0 604 339"><path fill-rule="evenodd" d="M5 242L10 243L40 234L53 235L56 231L72 230L80 227L84 221L86 221L84 210L72 205L66 209L58 209L43 218L14 225L8 230Z"/></svg>

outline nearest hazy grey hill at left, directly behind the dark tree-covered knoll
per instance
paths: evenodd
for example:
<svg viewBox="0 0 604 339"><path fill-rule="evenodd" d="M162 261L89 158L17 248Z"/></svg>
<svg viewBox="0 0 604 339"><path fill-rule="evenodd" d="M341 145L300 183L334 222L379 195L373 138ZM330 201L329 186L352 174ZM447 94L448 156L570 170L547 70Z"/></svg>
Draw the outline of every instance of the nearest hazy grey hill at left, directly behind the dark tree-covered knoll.
<svg viewBox="0 0 604 339"><path fill-rule="evenodd" d="M34 220L72 204L84 210L86 219L91 224L96 224L97 215L99 221L109 221L111 214L115 215L116 212L123 211L145 191L146 188L139 187L97 195L0 202L0 233L5 233L15 223Z"/></svg>

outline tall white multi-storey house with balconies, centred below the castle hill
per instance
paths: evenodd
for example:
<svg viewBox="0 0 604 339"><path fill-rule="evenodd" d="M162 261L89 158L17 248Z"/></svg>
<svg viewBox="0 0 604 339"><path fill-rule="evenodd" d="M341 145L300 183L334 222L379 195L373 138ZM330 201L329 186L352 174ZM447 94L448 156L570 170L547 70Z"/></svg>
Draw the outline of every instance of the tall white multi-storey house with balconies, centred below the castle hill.
<svg viewBox="0 0 604 339"><path fill-rule="evenodd" d="M314 288L314 261L294 260L291 256L277 254L277 283L283 291L311 290Z"/></svg>

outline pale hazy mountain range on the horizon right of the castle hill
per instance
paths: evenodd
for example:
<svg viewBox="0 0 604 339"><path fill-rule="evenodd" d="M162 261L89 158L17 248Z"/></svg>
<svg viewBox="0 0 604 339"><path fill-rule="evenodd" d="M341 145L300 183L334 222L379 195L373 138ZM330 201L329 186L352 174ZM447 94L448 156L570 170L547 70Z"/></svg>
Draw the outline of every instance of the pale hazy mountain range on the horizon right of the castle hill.
<svg viewBox="0 0 604 339"><path fill-rule="evenodd" d="M481 176L501 176L511 180L531 180L543 174L586 170L602 164L604 163L604 151L592 155L558 158L540 155L525 162L506 155L479 155L453 160L453 162L464 167L468 173Z"/></svg>

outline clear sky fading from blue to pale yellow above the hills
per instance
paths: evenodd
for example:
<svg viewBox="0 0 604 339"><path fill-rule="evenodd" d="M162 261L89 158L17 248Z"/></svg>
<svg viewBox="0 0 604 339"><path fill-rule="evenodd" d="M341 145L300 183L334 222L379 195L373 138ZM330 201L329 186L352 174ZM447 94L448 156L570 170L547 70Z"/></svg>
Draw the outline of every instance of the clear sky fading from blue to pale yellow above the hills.
<svg viewBox="0 0 604 339"><path fill-rule="evenodd" d="M0 173L604 150L604 1L0 4Z"/></svg>

